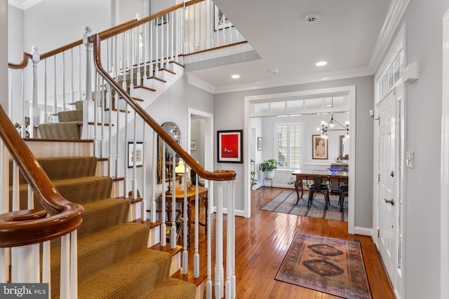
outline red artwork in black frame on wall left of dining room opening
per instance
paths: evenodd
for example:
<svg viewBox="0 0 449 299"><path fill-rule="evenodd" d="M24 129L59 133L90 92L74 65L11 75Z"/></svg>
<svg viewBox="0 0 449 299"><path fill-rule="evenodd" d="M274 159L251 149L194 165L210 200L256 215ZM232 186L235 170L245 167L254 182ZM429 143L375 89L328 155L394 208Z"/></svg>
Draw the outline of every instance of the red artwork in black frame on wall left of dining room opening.
<svg viewBox="0 0 449 299"><path fill-rule="evenodd" d="M217 131L217 162L243 163L243 130Z"/></svg>

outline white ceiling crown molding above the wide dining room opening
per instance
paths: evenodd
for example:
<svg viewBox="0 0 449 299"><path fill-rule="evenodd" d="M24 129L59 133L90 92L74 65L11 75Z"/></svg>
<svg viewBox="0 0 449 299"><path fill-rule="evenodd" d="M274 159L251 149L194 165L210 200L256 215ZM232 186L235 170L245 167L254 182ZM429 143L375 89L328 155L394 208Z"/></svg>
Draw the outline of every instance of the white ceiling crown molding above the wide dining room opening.
<svg viewBox="0 0 449 299"><path fill-rule="evenodd" d="M288 85L298 85L305 83L316 83L323 81L331 81L331 80L340 80L347 78L356 78L363 76L372 76L373 69L370 67L359 67L354 69L345 69L342 71L329 71L319 74L309 74L304 76L299 76L296 78L290 78L288 80L279 80L279 81L262 81L257 83L248 83L248 84L240 84L240 85L225 85L220 86L219 88L215 87L215 94L225 93L225 92L239 92L245 90L258 90L263 88L276 88L281 86Z"/></svg>

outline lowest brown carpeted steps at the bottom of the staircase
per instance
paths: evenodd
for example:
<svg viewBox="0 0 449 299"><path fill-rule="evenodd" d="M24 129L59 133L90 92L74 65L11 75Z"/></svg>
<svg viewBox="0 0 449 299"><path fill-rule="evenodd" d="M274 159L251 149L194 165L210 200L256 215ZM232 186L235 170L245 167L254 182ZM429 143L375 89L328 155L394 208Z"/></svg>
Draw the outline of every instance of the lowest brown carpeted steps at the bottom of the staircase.
<svg viewBox="0 0 449 299"><path fill-rule="evenodd" d="M170 263L168 253L142 250L80 284L79 298L192 298L193 284L168 278Z"/></svg>

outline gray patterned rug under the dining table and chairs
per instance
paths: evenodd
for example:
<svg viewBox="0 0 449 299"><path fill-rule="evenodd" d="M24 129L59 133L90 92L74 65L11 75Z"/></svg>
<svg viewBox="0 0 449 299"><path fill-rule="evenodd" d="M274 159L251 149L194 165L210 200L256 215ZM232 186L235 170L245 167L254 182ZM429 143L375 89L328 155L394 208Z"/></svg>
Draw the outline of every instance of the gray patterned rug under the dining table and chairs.
<svg viewBox="0 0 449 299"><path fill-rule="evenodd" d="M340 212L338 195L329 195L330 206L324 210L324 195L316 193L310 207L307 207L309 193L304 193L300 202L296 205L297 195L295 191L284 190L272 200L267 202L261 210L276 211L278 213L323 218L337 221L348 221L348 198L344 199L343 212Z"/></svg>

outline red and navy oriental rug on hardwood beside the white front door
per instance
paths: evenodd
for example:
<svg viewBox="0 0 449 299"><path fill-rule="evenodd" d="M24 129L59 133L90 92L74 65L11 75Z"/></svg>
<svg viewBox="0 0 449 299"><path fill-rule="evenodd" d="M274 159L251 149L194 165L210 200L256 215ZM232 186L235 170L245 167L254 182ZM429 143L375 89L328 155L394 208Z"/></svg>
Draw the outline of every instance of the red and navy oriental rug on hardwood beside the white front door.
<svg viewBox="0 0 449 299"><path fill-rule="evenodd" d="M347 299L372 299L361 252L354 241L296 232L276 280Z"/></svg>

